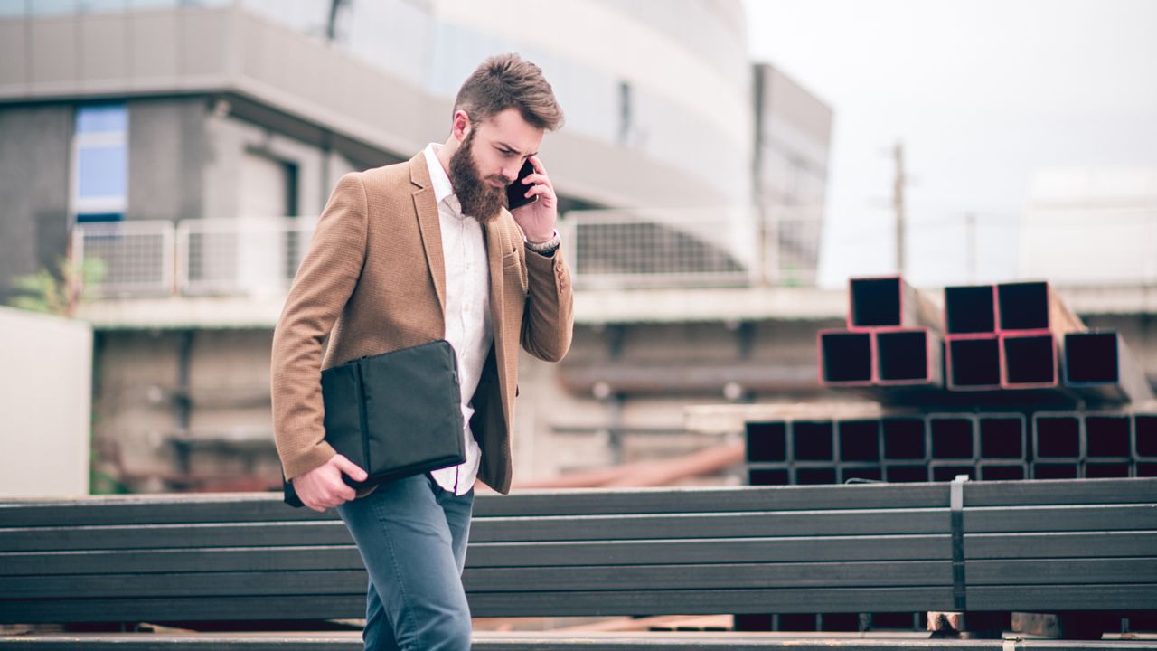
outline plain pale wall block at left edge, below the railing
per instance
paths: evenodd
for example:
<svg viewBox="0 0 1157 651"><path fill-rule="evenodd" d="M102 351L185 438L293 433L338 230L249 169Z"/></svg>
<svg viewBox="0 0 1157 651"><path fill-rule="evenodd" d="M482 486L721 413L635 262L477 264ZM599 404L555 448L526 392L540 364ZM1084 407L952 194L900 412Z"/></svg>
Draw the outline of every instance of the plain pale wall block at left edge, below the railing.
<svg viewBox="0 0 1157 651"><path fill-rule="evenodd" d="M93 329L0 307L0 497L88 495Z"/></svg>

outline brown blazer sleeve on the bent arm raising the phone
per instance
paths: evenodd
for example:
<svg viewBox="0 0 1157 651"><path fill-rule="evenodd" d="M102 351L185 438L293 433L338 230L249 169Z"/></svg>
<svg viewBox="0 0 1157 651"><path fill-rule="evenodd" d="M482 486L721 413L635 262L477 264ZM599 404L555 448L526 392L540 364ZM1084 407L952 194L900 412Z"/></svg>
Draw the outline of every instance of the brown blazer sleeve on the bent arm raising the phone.
<svg viewBox="0 0 1157 651"><path fill-rule="evenodd" d="M570 350L574 331L574 294L562 247L550 257L528 251L526 306L522 313L522 348L530 354L559 361Z"/></svg>

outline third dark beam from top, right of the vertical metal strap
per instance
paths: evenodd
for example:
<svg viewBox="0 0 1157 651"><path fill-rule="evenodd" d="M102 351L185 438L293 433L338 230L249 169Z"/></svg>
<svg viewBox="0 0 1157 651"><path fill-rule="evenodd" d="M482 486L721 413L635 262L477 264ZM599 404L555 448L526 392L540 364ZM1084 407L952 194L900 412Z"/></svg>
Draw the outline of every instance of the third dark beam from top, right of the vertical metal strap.
<svg viewBox="0 0 1157 651"><path fill-rule="evenodd" d="M1157 549L1157 532L1074 532L967 534L964 557L985 558L1111 558L1145 556Z"/></svg>

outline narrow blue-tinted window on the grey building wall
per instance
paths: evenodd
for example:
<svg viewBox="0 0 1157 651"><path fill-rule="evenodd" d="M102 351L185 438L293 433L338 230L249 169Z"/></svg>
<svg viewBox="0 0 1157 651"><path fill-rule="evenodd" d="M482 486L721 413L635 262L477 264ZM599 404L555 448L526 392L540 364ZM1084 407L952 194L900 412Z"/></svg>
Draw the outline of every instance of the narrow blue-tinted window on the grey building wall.
<svg viewBox="0 0 1157 651"><path fill-rule="evenodd" d="M124 219L128 204L128 109L124 104L76 109L72 186L78 222Z"/></svg>

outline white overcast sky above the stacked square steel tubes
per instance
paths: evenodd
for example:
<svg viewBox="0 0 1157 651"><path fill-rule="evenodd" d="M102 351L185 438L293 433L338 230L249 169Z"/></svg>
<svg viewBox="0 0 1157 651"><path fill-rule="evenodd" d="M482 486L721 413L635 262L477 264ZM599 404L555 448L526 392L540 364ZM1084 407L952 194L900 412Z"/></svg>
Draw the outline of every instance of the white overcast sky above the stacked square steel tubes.
<svg viewBox="0 0 1157 651"><path fill-rule="evenodd" d="M968 212L974 280L1014 278L1033 170L1157 167L1157 0L744 5L752 58L835 111L821 285L894 271L898 139L919 285L970 281Z"/></svg>

